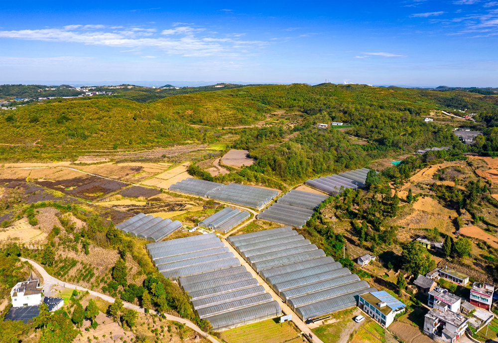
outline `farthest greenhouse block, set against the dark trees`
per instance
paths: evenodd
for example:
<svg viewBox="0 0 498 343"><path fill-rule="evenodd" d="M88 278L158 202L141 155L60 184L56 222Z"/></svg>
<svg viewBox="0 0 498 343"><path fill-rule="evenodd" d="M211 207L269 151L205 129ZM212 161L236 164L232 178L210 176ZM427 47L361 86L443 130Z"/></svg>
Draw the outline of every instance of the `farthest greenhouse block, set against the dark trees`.
<svg viewBox="0 0 498 343"><path fill-rule="evenodd" d="M370 169L362 168L339 174L321 176L319 178L308 179L306 184L315 189L321 190L329 195L337 195L346 188L357 189L365 187L367 174Z"/></svg>

